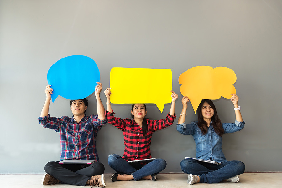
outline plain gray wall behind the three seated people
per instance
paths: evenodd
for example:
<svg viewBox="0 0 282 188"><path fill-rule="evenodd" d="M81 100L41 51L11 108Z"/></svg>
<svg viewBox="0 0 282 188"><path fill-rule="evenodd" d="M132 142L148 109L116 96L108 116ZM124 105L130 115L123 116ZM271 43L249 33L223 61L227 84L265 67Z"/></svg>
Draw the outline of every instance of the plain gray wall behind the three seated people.
<svg viewBox="0 0 282 188"><path fill-rule="evenodd" d="M275 162L282 156L281 33L281 0L1 0L0 173L43 173L48 161L59 160L59 134L41 127L37 118L48 69L69 55L94 59L104 89L112 67L171 69L173 90L179 94L177 118L182 109L181 73L199 65L232 69L246 126L223 135L226 158L243 161L246 171L282 171L282 164ZM101 98L105 104L103 93ZM96 114L95 96L88 99L88 114ZM234 121L228 99L218 99L215 105L223 122ZM130 115L130 104L112 108L117 117ZM161 114L149 104L148 117L163 119L169 109L166 104ZM59 96L49 112L71 116L69 100ZM186 123L194 120L190 105ZM123 154L122 132L103 126L97 149L105 172L112 173L107 156ZM151 150L153 157L167 161L163 172L181 172L180 161L195 156L195 143L174 124L154 133Z"/></svg>

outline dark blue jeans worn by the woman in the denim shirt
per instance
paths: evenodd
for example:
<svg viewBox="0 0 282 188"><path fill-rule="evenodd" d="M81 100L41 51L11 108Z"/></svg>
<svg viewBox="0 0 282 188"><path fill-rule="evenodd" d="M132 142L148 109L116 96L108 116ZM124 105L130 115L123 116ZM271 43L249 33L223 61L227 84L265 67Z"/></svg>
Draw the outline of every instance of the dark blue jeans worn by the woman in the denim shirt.
<svg viewBox="0 0 282 188"><path fill-rule="evenodd" d="M200 162L195 159L184 159L180 162L183 172L198 175L200 183L218 183L222 180L243 174L245 165L241 161L222 162L221 165Z"/></svg>

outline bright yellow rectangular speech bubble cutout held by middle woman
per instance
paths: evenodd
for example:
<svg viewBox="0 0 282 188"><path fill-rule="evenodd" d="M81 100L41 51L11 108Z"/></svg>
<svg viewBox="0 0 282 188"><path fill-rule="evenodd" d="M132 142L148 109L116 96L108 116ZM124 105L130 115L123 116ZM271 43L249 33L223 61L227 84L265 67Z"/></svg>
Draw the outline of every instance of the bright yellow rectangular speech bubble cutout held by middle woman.
<svg viewBox="0 0 282 188"><path fill-rule="evenodd" d="M154 103L163 112L171 102L170 69L113 67L110 73L111 102L118 104Z"/></svg>

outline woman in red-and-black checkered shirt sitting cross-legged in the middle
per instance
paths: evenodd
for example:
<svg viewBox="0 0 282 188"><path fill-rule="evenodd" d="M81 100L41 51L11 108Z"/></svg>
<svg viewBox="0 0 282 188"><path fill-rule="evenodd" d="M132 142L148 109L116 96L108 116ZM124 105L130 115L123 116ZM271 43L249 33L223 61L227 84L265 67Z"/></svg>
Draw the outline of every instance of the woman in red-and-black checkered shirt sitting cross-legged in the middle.
<svg viewBox="0 0 282 188"><path fill-rule="evenodd" d="M145 118L147 114L145 104L133 104L131 109L133 119L121 119L113 115L110 89L105 90L107 97L106 117L110 124L123 131L125 145L122 157L112 154L108 158L109 165L117 172L112 175L112 181L129 181L132 179L137 181L141 178L156 181L156 175L166 167L165 160L154 159L151 162L136 163L128 163L128 161L152 158L150 151L152 134L156 130L164 129L173 124L176 118L174 113L175 100L178 95L171 91L171 107L166 119L149 120Z"/></svg>

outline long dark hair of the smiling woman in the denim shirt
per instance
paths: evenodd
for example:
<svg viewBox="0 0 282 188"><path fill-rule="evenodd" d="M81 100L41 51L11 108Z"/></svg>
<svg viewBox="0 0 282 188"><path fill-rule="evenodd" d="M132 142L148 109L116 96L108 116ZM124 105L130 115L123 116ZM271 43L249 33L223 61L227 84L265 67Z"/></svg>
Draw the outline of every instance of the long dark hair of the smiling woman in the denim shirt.
<svg viewBox="0 0 282 188"><path fill-rule="evenodd" d="M224 133L224 130L222 128L221 120L219 119L217 115L217 110L215 108L215 105L211 100L208 99L203 99L201 103L198 106L198 127L201 129L201 133L203 135L206 135L207 133L207 122L203 119L203 114L202 114L202 107L204 103L207 102L209 105L212 106L214 114L212 116L212 126L214 130L216 131L217 135L222 136Z"/></svg>

